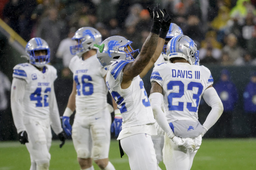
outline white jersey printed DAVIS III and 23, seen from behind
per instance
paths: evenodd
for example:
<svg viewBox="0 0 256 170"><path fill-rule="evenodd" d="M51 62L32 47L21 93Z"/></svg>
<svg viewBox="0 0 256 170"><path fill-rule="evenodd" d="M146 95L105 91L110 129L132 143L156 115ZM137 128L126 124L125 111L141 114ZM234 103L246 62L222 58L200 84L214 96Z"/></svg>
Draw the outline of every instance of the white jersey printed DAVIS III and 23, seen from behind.
<svg viewBox="0 0 256 170"><path fill-rule="evenodd" d="M168 122L198 120L198 105L204 90L213 84L209 69L188 63L162 63L154 67L150 81L162 87Z"/></svg>

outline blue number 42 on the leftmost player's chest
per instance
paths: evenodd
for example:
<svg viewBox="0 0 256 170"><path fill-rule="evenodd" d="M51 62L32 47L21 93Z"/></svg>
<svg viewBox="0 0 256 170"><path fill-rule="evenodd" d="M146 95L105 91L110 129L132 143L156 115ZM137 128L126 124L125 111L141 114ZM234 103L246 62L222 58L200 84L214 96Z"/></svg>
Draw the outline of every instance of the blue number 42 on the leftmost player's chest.
<svg viewBox="0 0 256 170"><path fill-rule="evenodd" d="M42 90L41 87L37 87L35 89L35 91L30 94L30 100L31 101L37 101L37 103L35 103L35 107L47 107L47 106L49 106L49 103L47 102L48 95L46 95L46 94L43 96L43 106L42 106L41 90ZM47 93L47 92L50 92L50 87L47 87L44 90L44 93Z"/></svg>

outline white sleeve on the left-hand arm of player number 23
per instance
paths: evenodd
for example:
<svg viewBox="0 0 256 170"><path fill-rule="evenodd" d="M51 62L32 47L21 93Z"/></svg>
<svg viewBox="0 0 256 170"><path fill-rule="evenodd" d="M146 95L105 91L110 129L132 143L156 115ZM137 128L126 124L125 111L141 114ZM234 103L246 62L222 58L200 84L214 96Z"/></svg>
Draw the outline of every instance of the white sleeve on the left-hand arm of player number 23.
<svg viewBox="0 0 256 170"><path fill-rule="evenodd" d="M151 107L153 110L154 118L162 130L167 134L167 136L172 139L175 135L173 134L170 126L164 116L161 109L161 104L163 102L163 96L161 93L151 93L149 96Z"/></svg>

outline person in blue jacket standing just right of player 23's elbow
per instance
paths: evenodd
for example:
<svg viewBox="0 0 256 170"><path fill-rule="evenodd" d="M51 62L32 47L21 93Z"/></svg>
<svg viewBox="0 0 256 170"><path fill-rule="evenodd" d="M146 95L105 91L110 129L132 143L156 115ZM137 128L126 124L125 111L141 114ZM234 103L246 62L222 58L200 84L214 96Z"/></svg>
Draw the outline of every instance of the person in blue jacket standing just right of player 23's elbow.
<svg viewBox="0 0 256 170"><path fill-rule="evenodd" d="M214 85L223 104L223 113L214 126L216 137L232 137L232 115L238 100L235 84L230 80L228 70L221 71L220 80Z"/></svg>

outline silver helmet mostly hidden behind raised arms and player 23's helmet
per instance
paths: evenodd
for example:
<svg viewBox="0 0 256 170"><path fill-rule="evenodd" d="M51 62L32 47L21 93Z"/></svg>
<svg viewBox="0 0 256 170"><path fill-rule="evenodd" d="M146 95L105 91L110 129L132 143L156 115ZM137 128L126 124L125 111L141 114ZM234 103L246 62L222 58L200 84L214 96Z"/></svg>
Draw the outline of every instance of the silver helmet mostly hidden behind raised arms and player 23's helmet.
<svg viewBox="0 0 256 170"><path fill-rule="evenodd" d="M183 35L183 31L177 24L170 23L169 30L168 30L168 32L166 34L166 37L165 37L165 42L166 41L168 42L171 38L173 38L176 35ZM166 47L167 47L167 45L164 44L163 49L162 49L162 56L165 60L167 60Z"/></svg>

